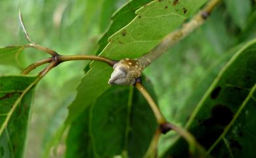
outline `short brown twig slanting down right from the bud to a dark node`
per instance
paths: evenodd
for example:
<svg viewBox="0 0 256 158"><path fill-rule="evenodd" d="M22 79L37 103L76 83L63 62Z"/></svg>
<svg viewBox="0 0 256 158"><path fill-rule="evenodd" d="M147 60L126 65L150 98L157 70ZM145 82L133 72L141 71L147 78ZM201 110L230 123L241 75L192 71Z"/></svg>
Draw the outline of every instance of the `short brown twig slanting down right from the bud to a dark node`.
<svg viewBox="0 0 256 158"><path fill-rule="evenodd" d="M158 124L161 125L166 123L165 117L163 117L163 114L161 113L160 109L158 108L158 106L156 105L156 103L154 102L150 94L148 94L148 91L144 88L144 86L139 82L137 82L135 86L141 92L141 94L146 98L146 100L148 101L148 104L150 104L150 107L154 112L156 120L158 121Z"/></svg>

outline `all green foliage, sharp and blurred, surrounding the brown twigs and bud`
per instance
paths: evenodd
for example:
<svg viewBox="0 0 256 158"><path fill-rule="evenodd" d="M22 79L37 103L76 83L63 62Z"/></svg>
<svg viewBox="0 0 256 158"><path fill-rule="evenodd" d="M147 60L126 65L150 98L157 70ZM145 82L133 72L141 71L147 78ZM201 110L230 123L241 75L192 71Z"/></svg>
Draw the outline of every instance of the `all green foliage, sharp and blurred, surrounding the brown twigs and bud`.
<svg viewBox="0 0 256 158"><path fill-rule="evenodd" d="M154 49L206 2L0 1L0 45L16 45L0 48L0 157L140 158L148 149L146 156L155 157L156 146L159 157L189 157L191 148L202 157L204 151L213 157L255 157L253 0L223 1L203 26L144 69L142 83L166 119L182 127L161 135L156 146L158 125L148 102L132 86L108 85L113 69L107 64L60 64L35 94L37 76L7 75L45 58L24 42L19 9L40 45L63 55L120 60Z"/></svg>

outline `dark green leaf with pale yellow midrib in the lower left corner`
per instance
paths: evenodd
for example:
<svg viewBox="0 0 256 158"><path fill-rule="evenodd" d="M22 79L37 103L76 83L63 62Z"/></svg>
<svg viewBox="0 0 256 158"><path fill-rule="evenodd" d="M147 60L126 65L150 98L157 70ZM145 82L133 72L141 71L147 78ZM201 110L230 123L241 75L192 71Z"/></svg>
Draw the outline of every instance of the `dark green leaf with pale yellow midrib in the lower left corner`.
<svg viewBox="0 0 256 158"><path fill-rule="evenodd" d="M37 77L0 77L1 157L24 157Z"/></svg>

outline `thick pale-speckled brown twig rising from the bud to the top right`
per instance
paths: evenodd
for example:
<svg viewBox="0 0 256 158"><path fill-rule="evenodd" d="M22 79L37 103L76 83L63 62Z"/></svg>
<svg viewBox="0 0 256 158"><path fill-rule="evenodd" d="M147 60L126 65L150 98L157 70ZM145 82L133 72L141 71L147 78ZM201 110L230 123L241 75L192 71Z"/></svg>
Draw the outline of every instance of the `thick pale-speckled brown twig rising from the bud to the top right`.
<svg viewBox="0 0 256 158"><path fill-rule="evenodd" d="M208 18L209 14L215 9L221 0L211 0L205 5L202 11L198 12L188 23L184 24L181 29L169 33L161 43L153 50L138 58L138 62L144 68L156 60L161 54L188 36L192 31L199 28Z"/></svg>

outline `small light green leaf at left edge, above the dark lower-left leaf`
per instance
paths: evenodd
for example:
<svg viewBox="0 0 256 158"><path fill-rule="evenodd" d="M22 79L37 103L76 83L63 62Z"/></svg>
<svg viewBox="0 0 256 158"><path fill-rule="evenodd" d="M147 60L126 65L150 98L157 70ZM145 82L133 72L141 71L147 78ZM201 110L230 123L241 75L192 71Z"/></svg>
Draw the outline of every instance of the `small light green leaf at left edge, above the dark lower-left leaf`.
<svg viewBox="0 0 256 158"><path fill-rule="evenodd" d="M22 63L20 62L19 55L24 48L24 46L0 48L0 64L21 68Z"/></svg>

